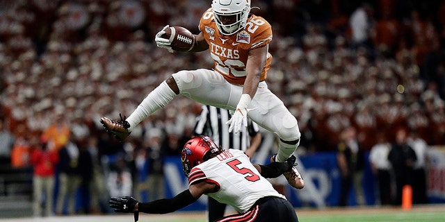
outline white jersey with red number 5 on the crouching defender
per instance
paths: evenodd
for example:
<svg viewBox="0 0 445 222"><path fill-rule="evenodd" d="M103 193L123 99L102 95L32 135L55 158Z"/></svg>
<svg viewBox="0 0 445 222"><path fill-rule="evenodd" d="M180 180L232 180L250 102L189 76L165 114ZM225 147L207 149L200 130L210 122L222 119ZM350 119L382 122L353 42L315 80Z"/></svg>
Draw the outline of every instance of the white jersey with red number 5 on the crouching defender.
<svg viewBox="0 0 445 222"><path fill-rule="evenodd" d="M188 185L202 180L218 186L218 191L207 194L208 196L231 205L241 213L248 211L259 198L285 198L259 174L243 151L234 149L223 151L193 167L188 176Z"/></svg>

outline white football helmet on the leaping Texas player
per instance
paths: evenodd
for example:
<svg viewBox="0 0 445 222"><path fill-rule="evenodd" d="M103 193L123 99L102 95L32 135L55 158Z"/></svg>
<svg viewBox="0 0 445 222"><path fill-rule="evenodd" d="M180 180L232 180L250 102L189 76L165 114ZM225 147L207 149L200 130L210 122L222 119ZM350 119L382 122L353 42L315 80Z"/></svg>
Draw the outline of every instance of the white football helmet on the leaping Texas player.
<svg viewBox="0 0 445 222"><path fill-rule="evenodd" d="M213 0L211 8L220 33L232 35L245 27L250 12L250 0ZM225 24L227 19L230 24Z"/></svg>

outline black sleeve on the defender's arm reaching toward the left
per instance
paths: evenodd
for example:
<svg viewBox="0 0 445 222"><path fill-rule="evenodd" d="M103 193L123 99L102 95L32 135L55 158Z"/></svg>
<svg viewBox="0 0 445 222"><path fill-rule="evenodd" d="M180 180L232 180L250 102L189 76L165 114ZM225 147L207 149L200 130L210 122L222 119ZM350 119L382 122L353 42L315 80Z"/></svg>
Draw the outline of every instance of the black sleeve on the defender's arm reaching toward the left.
<svg viewBox="0 0 445 222"><path fill-rule="evenodd" d="M139 203L138 211L147 214L167 214L186 207L195 201L196 199L192 196L191 192L186 189L173 198L154 200L149 203Z"/></svg>

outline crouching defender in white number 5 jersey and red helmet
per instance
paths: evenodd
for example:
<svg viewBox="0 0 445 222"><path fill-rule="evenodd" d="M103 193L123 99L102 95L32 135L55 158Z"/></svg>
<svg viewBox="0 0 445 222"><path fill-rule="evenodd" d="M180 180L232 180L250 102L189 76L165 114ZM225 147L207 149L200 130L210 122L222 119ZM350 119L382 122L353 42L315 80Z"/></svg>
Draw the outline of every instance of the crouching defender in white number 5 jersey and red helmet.
<svg viewBox="0 0 445 222"><path fill-rule="evenodd" d="M115 212L167 214L195 202L202 194L220 203L232 205L238 214L217 219L223 221L296 222L297 214L286 198L266 178L275 178L289 171L296 160L273 162L266 166L252 164L243 151L223 151L209 137L194 137L184 145L181 163L188 177L189 188L173 198L139 203L131 196L112 197Z"/></svg>

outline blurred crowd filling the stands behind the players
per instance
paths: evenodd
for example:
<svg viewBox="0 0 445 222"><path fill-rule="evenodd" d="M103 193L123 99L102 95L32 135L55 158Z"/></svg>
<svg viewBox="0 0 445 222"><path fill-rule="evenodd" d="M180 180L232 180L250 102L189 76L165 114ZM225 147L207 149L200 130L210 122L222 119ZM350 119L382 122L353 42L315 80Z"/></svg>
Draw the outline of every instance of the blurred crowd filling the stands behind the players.
<svg viewBox="0 0 445 222"><path fill-rule="evenodd" d="M428 145L445 144L445 1L252 6L273 27L267 83L297 117L303 149L336 151L350 126L364 151L378 144L377 135L393 140L401 126ZM1 155L26 166L26 153L51 144L59 153L67 149L69 159L59 160L74 161L67 167L102 166L104 155L115 155L116 172L119 160L133 163L129 171L143 167L148 147L177 155L200 112L185 97L154 113L124 143L105 133L99 119L129 115L176 71L211 69L207 51L168 53L153 41L166 24L197 33L209 7L192 0L1 0L0 138L9 139ZM90 165L76 162L83 152ZM85 168L76 172L93 180ZM124 180L119 175L115 180Z"/></svg>

